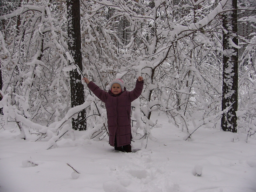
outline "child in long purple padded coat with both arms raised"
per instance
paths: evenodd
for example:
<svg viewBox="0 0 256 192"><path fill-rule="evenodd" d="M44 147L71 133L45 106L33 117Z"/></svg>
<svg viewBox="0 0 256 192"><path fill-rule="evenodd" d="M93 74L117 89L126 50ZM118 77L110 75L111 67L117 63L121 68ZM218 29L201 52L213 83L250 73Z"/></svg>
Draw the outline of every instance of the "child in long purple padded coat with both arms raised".
<svg viewBox="0 0 256 192"><path fill-rule="evenodd" d="M87 78L83 79L89 89L106 105L109 144L118 151L132 152L131 102L142 92L143 77L139 76L132 91L126 91L124 82L121 79L115 79L110 82L111 89L108 92L101 90Z"/></svg>

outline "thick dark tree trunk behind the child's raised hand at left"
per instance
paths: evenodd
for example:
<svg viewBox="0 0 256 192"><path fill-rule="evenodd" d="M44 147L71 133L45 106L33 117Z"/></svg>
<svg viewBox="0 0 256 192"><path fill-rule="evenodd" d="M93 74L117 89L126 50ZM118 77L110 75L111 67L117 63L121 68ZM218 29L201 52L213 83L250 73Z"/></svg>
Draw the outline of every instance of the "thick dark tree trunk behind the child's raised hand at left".
<svg viewBox="0 0 256 192"><path fill-rule="evenodd" d="M68 15L68 49L74 59L74 63L69 61L69 65L76 64L82 71L82 53L81 53L81 28L80 28L80 1L67 1ZM84 103L84 85L81 82L81 76L77 70L70 71L71 87L71 107L82 105ZM78 116L72 120L72 126L75 130L86 129L85 109L80 111Z"/></svg>

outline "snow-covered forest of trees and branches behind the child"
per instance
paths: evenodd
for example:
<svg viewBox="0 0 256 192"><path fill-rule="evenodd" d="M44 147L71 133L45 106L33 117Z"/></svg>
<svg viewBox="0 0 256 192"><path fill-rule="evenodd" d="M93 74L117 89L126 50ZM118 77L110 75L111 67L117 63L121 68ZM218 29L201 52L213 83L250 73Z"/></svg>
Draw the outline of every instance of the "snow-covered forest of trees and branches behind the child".
<svg viewBox="0 0 256 192"><path fill-rule="evenodd" d="M132 90L143 76L132 103L135 139L154 139L152 112L164 112L186 140L188 124L220 122L251 137L255 7L252 0L1 1L1 127L15 122L20 138L28 129L49 148L74 130L102 139L106 110L82 78L104 90L120 78Z"/></svg>

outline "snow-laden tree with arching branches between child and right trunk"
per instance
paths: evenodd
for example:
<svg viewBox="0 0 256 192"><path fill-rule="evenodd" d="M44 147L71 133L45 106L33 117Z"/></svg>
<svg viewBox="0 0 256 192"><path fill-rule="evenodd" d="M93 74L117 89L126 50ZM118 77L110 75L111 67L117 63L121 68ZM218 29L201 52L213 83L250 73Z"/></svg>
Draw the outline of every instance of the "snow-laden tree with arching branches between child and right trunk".
<svg viewBox="0 0 256 192"><path fill-rule="evenodd" d="M220 13L229 11L225 10L227 0L177 4L171 1L90 2L98 5L94 15L108 15L98 18L104 18L100 23L111 34L111 45L118 42L118 63L122 68L117 76L131 79L141 74L147 81L141 108L147 119L151 111L158 108L166 111L174 124L187 126L190 112L203 109L200 124L205 124L205 118L205 122L216 124L221 117L218 112L221 111L223 71ZM127 38L130 40L128 44L123 43L122 48L124 41L114 26L123 23L124 18L130 21L130 27L124 29L130 32L126 42Z"/></svg>

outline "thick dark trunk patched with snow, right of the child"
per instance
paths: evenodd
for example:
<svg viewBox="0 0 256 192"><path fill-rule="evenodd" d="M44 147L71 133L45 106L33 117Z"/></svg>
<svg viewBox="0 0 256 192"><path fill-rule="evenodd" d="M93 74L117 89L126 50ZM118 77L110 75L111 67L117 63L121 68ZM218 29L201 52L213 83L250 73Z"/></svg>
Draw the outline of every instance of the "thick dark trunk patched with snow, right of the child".
<svg viewBox="0 0 256 192"><path fill-rule="evenodd" d="M237 39L237 1L228 0L225 9L233 9L223 14L223 85L222 110L227 109L221 118L224 131L236 132L238 103L238 39Z"/></svg>

